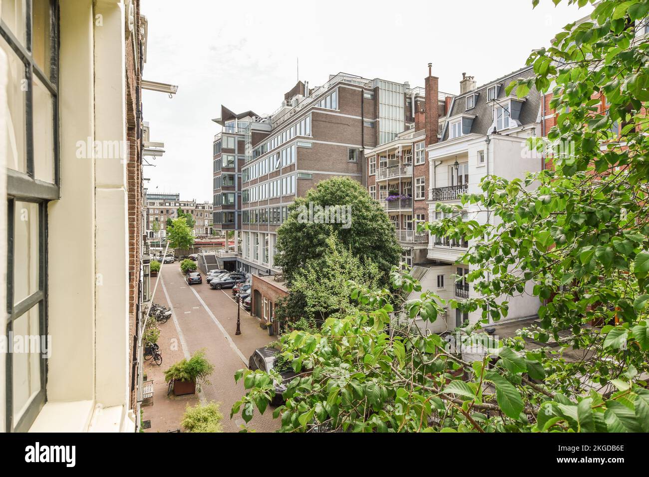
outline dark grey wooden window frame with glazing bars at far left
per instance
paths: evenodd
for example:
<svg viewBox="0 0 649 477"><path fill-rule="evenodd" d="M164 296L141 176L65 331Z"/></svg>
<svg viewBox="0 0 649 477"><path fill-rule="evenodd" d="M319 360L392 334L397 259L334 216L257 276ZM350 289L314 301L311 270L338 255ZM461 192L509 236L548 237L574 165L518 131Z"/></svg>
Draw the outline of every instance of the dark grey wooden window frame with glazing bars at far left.
<svg viewBox="0 0 649 477"><path fill-rule="evenodd" d="M24 67L23 81L27 90L23 96L24 122L21 124L25 134L25 172L6 169L7 175L7 280L6 280L6 336L12 332L14 323L25 317L33 308L38 307L38 335L47 337L47 204L49 201L60 198L60 151L59 151L59 8L58 0L49 0L49 74L46 74L36 63L33 55L33 8L32 2L25 2L25 41L23 42L0 21L0 42L6 42L8 51L16 55L18 62ZM34 79L40 81L43 88L49 93L52 106L51 133L52 133L52 160L53 182L36 179L38 171L34 170ZM14 269L16 267L15 250L15 220L16 202L29 202L38 206L38 289L27 297L14 304ZM14 422L14 356L6 353L5 377L5 431L27 432L38 413L47 401L47 359L40 353L38 359L40 373L40 390L36 393L27 408Z"/></svg>

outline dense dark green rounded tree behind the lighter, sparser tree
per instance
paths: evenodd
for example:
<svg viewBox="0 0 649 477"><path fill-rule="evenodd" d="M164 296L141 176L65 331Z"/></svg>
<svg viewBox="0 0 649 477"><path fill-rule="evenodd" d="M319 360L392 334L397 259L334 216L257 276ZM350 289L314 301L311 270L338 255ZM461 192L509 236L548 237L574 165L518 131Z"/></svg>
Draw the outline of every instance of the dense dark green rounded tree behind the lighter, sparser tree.
<svg viewBox="0 0 649 477"><path fill-rule="evenodd" d="M348 223L315 223L304 211L313 206L350 206ZM295 199L288 219L277 230L275 264L290 284L308 260L320 258L327 249L330 230L354 256L376 263L383 282L392 265L399 262L402 249L386 212L356 180L331 178L318 182L304 197ZM300 214L306 220L300 220Z"/></svg>

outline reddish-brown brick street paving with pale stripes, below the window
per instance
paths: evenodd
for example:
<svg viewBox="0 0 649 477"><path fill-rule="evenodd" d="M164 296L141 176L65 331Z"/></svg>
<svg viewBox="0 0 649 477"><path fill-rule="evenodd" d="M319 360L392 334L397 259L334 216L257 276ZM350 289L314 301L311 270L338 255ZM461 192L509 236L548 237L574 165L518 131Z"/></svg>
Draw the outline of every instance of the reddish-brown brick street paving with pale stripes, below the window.
<svg viewBox="0 0 649 477"><path fill-rule="evenodd" d="M204 279L204 277L203 277ZM155 279L153 279L155 280ZM152 280L151 286L154 286ZM234 373L247 367L252 352L273 341L259 326L259 321L241 308L241 335L235 336L237 304L232 299L232 290L213 290L203 282L189 286L180 273L177 263L162 267L162 278L154 302L173 307L175 321L160 325L158 340L163 363L158 367L146 361L145 372L154 380L153 406L143 406L143 420L151 420L147 432L166 432L180 427L180 419L187 404L214 400L221 403L224 432L238 432L244 424L241 415L230 419L232 404L245 394L243 383L234 382ZM164 370L191 355L199 349L206 350L208 360L215 365L211 384L204 385L201 395L189 397L167 397ZM280 426L279 419L273 419L273 408L260 415L255 411L248 428L257 432L272 432Z"/></svg>

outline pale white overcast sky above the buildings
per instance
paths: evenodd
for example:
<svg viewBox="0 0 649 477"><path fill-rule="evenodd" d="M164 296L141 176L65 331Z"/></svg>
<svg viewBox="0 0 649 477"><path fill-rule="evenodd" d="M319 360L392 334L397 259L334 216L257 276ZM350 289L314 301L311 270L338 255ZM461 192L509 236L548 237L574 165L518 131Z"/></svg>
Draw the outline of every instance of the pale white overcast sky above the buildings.
<svg viewBox="0 0 649 477"><path fill-rule="evenodd" d="M567 2L563 2L567 3ZM149 20L143 78L178 86L145 91L143 113L162 158L145 167L149 191L212 201L212 122L221 104L270 113L299 79L310 86L343 71L424 86L428 62L439 89L458 93L524 66L591 7L541 0L214 1L143 0Z"/></svg>

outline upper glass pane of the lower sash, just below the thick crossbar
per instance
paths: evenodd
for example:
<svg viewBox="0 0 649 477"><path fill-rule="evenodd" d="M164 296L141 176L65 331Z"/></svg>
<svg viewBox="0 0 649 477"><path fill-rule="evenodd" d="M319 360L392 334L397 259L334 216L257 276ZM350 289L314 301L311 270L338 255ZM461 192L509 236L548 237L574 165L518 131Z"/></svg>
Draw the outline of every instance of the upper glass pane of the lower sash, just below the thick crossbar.
<svg viewBox="0 0 649 477"><path fill-rule="evenodd" d="M38 204L14 205L14 304L38 291Z"/></svg>

